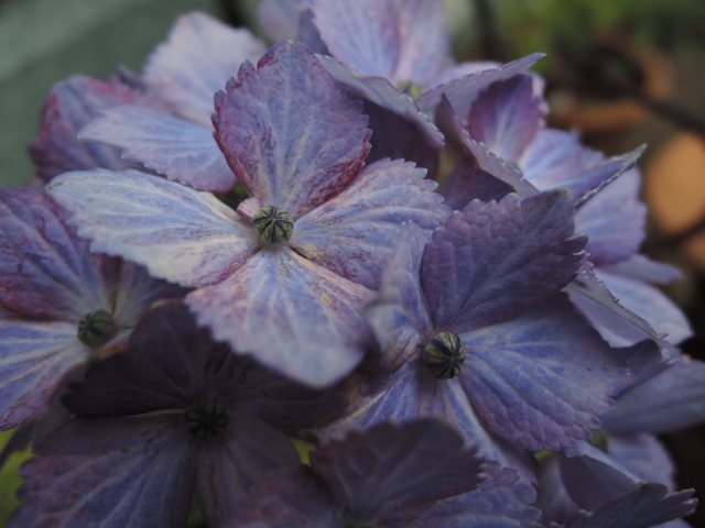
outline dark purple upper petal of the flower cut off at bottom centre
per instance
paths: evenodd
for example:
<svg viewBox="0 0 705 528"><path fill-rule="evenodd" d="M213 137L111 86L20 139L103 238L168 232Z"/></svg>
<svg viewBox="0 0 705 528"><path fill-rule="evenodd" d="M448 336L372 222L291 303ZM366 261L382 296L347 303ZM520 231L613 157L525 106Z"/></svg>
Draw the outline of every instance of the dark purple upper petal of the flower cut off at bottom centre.
<svg viewBox="0 0 705 528"><path fill-rule="evenodd" d="M384 422L330 441L311 454L314 471L356 522L476 490L482 461L436 419Z"/></svg>

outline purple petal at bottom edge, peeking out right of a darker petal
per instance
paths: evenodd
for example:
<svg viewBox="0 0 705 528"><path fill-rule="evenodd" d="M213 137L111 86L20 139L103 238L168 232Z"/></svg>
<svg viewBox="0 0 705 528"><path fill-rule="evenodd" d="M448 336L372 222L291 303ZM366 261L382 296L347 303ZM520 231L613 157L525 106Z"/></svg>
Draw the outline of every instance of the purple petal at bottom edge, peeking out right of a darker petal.
<svg viewBox="0 0 705 528"><path fill-rule="evenodd" d="M478 490L400 512L394 528L540 528L536 492L516 471L488 462Z"/></svg>

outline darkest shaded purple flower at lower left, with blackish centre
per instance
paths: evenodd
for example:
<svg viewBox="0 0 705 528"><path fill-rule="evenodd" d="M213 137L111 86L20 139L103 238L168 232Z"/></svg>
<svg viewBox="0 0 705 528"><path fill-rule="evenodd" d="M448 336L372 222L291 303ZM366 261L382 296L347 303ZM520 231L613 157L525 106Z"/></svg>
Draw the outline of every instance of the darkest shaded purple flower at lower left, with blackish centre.
<svg viewBox="0 0 705 528"><path fill-rule="evenodd" d="M215 526L268 471L299 463L286 435L340 405L214 343L178 302L70 388L78 417L35 447L10 526L184 526L194 491Z"/></svg>

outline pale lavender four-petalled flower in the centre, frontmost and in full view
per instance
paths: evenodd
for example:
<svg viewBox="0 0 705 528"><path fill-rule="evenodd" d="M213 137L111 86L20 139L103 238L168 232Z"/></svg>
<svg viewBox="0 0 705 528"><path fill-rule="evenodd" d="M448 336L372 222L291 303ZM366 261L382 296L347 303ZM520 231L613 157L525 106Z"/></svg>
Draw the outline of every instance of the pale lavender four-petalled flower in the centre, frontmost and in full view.
<svg viewBox="0 0 705 528"><path fill-rule="evenodd" d="M364 167L367 119L302 44L245 63L216 111L216 140L250 194L237 212L133 172L73 173L50 193L94 250L196 287L187 304L216 339L294 380L335 383L369 345L359 307L399 226L432 230L449 210L425 170Z"/></svg>

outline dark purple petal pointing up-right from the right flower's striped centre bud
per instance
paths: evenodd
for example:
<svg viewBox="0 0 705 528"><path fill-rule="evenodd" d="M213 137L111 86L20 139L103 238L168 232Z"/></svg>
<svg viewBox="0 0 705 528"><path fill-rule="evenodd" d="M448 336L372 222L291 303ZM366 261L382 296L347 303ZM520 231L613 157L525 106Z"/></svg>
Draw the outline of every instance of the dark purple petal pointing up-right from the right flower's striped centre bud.
<svg viewBox="0 0 705 528"><path fill-rule="evenodd" d="M573 279L584 239L571 194L473 201L433 233L421 283L436 329L455 333L511 319Z"/></svg>

